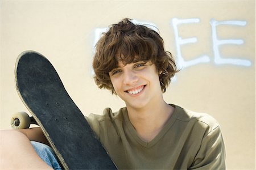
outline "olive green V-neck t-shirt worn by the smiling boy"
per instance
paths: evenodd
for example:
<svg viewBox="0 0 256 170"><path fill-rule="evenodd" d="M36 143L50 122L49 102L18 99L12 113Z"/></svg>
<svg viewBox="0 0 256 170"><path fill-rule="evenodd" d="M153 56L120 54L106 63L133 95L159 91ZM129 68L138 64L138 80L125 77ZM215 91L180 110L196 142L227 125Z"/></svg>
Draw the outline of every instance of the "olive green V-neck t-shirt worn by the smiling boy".
<svg viewBox="0 0 256 170"><path fill-rule="evenodd" d="M225 169L225 147L217 121L177 105L150 142L139 138L126 108L90 114L93 131L118 169Z"/></svg>

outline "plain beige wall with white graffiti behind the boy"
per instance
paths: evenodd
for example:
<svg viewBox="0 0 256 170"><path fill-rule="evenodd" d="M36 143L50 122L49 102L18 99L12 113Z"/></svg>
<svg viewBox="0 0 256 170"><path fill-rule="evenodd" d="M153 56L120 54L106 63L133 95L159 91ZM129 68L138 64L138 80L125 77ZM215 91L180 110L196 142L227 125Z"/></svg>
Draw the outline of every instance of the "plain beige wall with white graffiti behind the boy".
<svg viewBox="0 0 256 170"><path fill-rule="evenodd" d="M254 169L254 12L254 1L1 1L1 129L10 129L12 113L27 111L14 80L16 57L24 50L48 57L85 115L123 107L118 97L98 90L91 62L96 29L129 17L155 24L183 67L166 101L215 117L228 169ZM181 22L177 27L174 18ZM179 37L196 39L179 45ZM219 40L228 41L215 46Z"/></svg>

